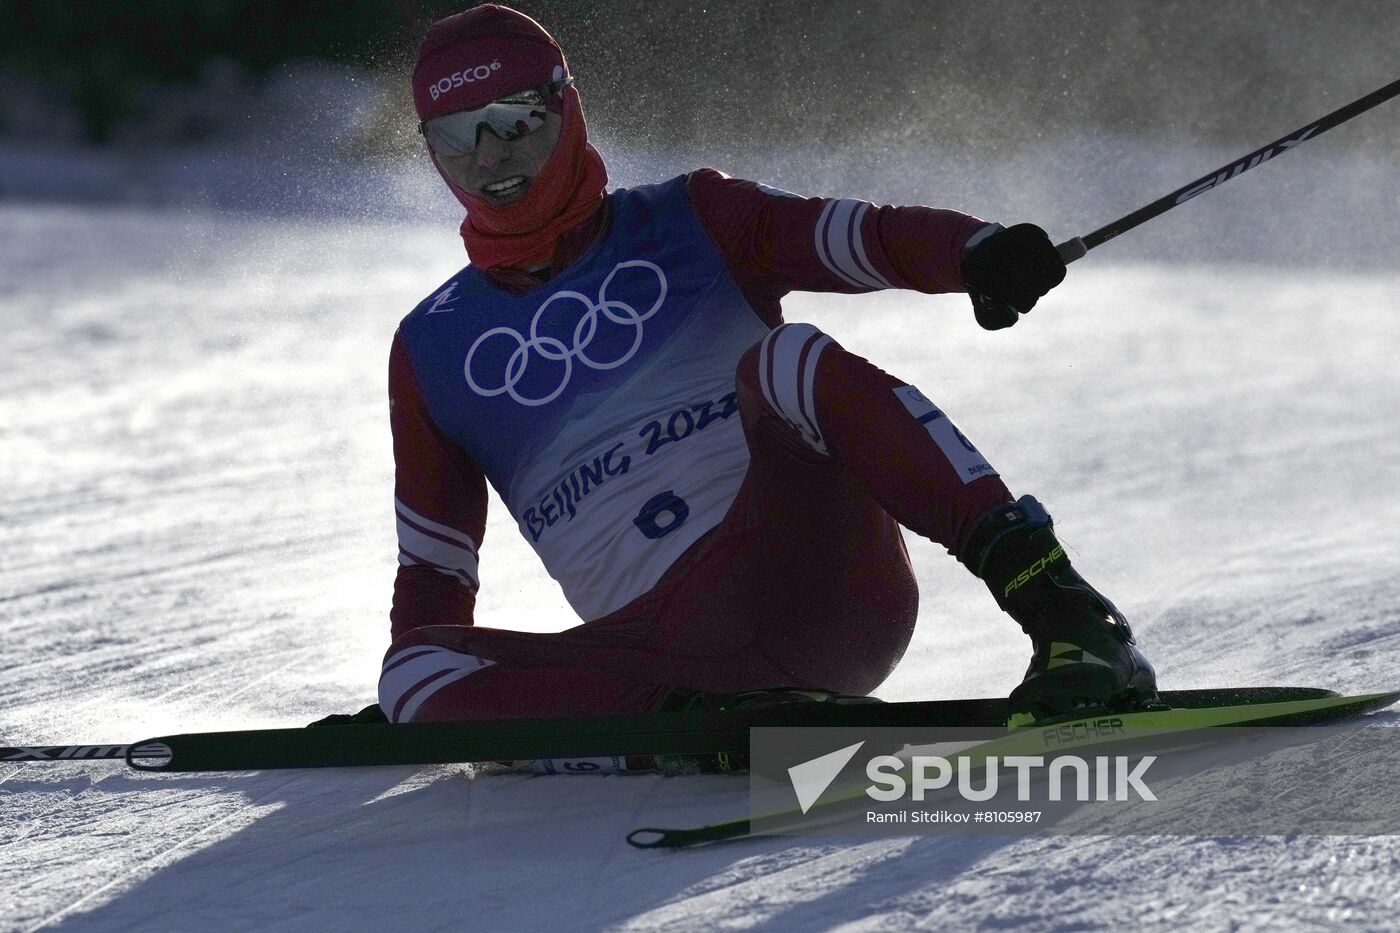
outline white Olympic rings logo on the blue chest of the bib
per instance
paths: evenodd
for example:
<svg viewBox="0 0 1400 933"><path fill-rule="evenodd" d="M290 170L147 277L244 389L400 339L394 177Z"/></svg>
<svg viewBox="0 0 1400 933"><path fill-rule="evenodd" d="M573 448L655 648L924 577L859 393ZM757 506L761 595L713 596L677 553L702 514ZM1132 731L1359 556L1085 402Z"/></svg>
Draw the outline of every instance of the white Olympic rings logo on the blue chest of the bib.
<svg viewBox="0 0 1400 933"><path fill-rule="evenodd" d="M652 275L657 276L658 293L657 300L651 303L651 307L645 311L637 311L627 301L619 301L608 297L608 286L612 283L613 277L623 269L638 268L650 269ZM539 405L549 405L556 398L559 398L574 375L574 360L578 360L591 370L615 370L631 357L637 354L641 349L643 326L641 322L654 315L661 310L661 304L666 300L666 275L655 263L647 262L645 259L629 259L626 262L619 262L613 266L613 270L608 273L603 283L598 286L598 300L589 298L587 294L580 291L556 291L545 300L545 304L539 305L535 311L535 317L529 322L529 339L521 335L519 331L514 328L500 326L491 328L476 338L472 343L472 349L466 353L466 363L462 367L466 375L466 384L472 387L472 391L483 398L494 398L497 395L510 394L512 399L521 405L535 408ZM574 325L574 340L573 346L566 346L563 340L552 336L542 336L539 333L539 322L545 315L545 311L559 301L577 301L584 307L584 315ZM588 346L592 343L598 333L598 315L602 314L608 321L617 324L620 326L634 328L631 338L631 346L615 360L595 360L588 356ZM472 374L473 360L476 359L476 352L483 343L496 336L504 336L515 342L515 350L511 353L510 359L505 361L504 371L498 380L500 385L486 387L476 381ZM521 380L525 378L525 371L531 364L531 360L538 354L543 360L552 363L563 363L564 371L552 392L542 398L529 398L515 391ZM497 380L493 380L493 382Z"/></svg>

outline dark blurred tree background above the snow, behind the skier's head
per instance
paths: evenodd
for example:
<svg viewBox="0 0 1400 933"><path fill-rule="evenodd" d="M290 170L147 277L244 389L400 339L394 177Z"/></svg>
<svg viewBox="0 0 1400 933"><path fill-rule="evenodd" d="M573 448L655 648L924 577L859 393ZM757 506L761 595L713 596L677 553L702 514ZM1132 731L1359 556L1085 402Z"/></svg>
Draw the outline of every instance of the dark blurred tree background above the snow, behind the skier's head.
<svg viewBox="0 0 1400 933"><path fill-rule="evenodd" d="M211 60L258 77L323 59L402 80L424 27L465 6L0 0L0 73L46 88L101 143L153 106L148 88L193 83ZM560 39L591 119L640 144L952 134L1000 148L1060 129L1254 143L1400 70L1394 0L517 6ZM1358 122L1352 140L1393 151L1397 123Z"/></svg>

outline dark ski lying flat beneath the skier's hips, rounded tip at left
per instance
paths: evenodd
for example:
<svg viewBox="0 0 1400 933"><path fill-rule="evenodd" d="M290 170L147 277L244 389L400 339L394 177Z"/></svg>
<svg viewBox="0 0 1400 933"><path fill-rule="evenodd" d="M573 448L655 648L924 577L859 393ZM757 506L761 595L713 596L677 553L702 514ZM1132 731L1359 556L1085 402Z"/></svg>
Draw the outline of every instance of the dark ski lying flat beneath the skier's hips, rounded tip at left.
<svg viewBox="0 0 1400 933"><path fill-rule="evenodd" d="M1163 691L1173 709L1333 700L1333 691L1253 686ZM795 703L764 709L665 712L476 723L337 723L301 728L186 733L130 745L0 748L0 761L125 759L153 772L357 768L532 759L742 755L749 728L773 726L1001 727L1004 698L899 703Z"/></svg>

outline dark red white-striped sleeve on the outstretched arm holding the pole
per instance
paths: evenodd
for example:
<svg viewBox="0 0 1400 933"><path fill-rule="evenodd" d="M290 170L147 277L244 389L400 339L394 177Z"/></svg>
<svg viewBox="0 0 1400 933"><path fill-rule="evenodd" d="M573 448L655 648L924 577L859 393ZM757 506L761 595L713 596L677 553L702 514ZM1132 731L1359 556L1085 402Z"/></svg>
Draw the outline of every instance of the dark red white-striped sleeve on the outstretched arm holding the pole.
<svg viewBox="0 0 1400 933"><path fill-rule="evenodd" d="M788 291L966 291L958 263L987 227L956 210L801 198L713 168L690 174L686 196L749 304L774 326Z"/></svg>

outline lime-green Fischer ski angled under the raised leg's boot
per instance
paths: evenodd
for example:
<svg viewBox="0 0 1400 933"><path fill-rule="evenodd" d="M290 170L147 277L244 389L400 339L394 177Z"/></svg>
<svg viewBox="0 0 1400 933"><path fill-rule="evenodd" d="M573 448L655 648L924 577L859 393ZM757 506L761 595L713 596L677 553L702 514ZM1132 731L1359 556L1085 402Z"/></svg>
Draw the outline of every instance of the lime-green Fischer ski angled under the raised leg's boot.
<svg viewBox="0 0 1400 933"><path fill-rule="evenodd" d="M1211 696L1212 693L1215 696ZM1105 716L1099 712L1084 719L1060 720L1053 726L1012 728L1004 737L986 741L963 754L970 754L977 761L986 761L991 756L1004 759L1008 755L1044 752L1047 742L1044 726L1056 731L1061 728L1075 731L1075 727L1079 727L1078 733L1086 738L1078 740L1077 747L1088 747L1141 741L1144 734L1154 731L1166 734L1198 733L1200 730L1231 726L1317 726L1385 709L1400 700L1400 691L1343 696L1331 691L1263 688L1261 691L1235 692L1232 703L1203 702L1217 699L1219 695L1221 692L1212 691L1163 691L1161 698L1170 709L1112 713L1114 723L1123 727L1121 730L1100 733L1093 728L1095 720ZM763 814L760 818L767 825L795 824L798 820L802 820L804 825L815 825L823 817L826 821L836 821L847 815L844 807L862 796L864 790L850 790L825 800L805 814L792 807ZM748 835L752 835L752 820L742 817L703 827L669 829L645 827L627 834L627 842L638 849L679 849Z"/></svg>

